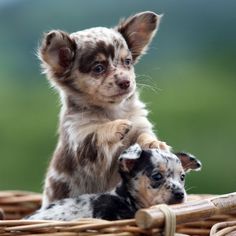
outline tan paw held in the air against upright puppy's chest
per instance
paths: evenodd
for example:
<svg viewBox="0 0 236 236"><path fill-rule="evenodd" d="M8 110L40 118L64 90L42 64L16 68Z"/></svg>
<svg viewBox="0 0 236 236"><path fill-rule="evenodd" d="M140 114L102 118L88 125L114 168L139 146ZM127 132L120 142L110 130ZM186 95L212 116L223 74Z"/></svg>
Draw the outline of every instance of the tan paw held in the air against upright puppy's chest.
<svg viewBox="0 0 236 236"><path fill-rule="evenodd" d="M113 132L115 141L119 142L124 139L125 135L131 130L132 122L129 120L113 121Z"/></svg>

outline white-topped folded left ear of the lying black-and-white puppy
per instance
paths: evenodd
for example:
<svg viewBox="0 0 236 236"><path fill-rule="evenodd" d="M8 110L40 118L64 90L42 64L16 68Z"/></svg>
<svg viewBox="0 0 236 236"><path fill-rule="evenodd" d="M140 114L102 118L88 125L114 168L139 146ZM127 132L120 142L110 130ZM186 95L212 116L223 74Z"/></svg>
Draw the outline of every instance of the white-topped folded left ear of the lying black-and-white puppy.
<svg viewBox="0 0 236 236"><path fill-rule="evenodd" d="M130 172L137 159L141 156L141 153L142 149L137 143L122 152L119 157L120 170L123 172Z"/></svg>

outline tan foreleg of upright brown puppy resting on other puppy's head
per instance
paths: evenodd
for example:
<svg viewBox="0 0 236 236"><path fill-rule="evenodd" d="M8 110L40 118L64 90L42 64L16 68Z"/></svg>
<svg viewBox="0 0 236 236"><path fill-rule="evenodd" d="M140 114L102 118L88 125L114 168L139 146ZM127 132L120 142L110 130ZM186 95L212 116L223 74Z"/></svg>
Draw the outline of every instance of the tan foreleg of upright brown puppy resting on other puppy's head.
<svg viewBox="0 0 236 236"><path fill-rule="evenodd" d="M137 143L143 149L158 148L166 151L170 151L171 147L165 142L162 142L148 133L141 133L137 138Z"/></svg>

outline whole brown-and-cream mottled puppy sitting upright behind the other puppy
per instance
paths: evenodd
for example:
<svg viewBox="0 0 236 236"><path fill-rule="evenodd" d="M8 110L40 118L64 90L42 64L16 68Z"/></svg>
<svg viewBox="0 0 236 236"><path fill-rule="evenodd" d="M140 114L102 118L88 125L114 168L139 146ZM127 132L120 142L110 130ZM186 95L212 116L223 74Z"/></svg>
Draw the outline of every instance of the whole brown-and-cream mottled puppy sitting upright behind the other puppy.
<svg viewBox="0 0 236 236"><path fill-rule="evenodd" d="M169 149L147 119L134 72L159 22L155 13L142 12L115 28L45 34L39 58L62 107L43 207L113 189L120 181L117 158L136 142L142 148Z"/></svg>

